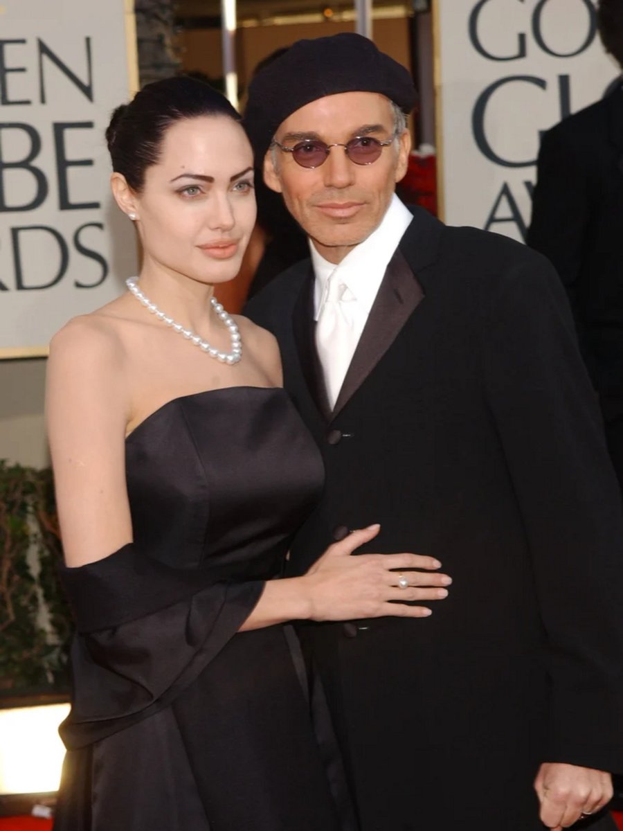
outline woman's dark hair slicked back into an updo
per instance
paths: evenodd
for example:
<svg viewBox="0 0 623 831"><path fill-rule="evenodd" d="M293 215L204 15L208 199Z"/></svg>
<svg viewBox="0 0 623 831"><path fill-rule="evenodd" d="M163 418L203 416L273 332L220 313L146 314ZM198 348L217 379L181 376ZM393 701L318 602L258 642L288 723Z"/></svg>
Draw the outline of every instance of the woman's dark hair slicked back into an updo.
<svg viewBox="0 0 623 831"><path fill-rule="evenodd" d="M227 98L203 81L177 76L147 84L130 104L118 106L110 118L106 141L112 169L123 174L130 188L140 193L145 170L159 160L169 127L199 116L240 120Z"/></svg>

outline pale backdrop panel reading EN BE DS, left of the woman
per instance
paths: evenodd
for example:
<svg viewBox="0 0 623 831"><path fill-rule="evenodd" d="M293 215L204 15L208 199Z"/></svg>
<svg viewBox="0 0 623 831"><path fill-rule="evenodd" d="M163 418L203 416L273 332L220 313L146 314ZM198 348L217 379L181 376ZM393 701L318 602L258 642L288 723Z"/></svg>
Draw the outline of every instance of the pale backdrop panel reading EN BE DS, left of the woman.
<svg viewBox="0 0 623 831"><path fill-rule="evenodd" d="M0 357L46 354L135 273L104 138L133 42L130 0L0 3Z"/></svg>

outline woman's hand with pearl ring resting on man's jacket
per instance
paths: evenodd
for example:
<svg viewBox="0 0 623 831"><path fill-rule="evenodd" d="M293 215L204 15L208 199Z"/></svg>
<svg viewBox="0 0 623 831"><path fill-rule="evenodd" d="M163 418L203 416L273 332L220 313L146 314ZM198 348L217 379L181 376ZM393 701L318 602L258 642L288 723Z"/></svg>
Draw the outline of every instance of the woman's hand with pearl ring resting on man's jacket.
<svg viewBox="0 0 623 831"><path fill-rule="evenodd" d="M375 538L380 525L353 531L333 543L301 579L310 601L308 617L341 621L361 617L427 617L431 610L405 601L442 600L452 583L435 569L438 560L420 554L352 554ZM413 570L416 569L416 570ZM409 581L401 588L400 578ZM399 601L399 602L390 602Z"/></svg>

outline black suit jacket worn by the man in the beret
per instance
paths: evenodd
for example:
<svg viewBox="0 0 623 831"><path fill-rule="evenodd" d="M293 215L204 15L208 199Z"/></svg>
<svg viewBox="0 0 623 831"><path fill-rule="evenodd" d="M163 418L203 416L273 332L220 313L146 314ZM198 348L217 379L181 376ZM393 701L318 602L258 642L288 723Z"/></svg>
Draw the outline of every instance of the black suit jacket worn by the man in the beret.
<svg viewBox="0 0 623 831"><path fill-rule="evenodd" d="M248 314L277 336L326 465L293 571L380 522L370 550L454 578L429 619L301 627L363 831L542 829L541 762L623 769L621 508L557 276L417 209L332 414L309 261Z"/></svg>

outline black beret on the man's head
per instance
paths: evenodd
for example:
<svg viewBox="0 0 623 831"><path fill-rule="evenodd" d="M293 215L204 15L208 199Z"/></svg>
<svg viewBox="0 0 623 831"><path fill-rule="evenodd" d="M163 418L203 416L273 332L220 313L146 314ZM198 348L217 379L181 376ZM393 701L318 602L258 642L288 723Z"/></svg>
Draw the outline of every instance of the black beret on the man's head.
<svg viewBox="0 0 623 831"><path fill-rule="evenodd" d="M243 123L258 164L287 116L339 92L379 92L409 113L417 101L410 73L367 37L343 32L292 44L253 78Z"/></svg>

